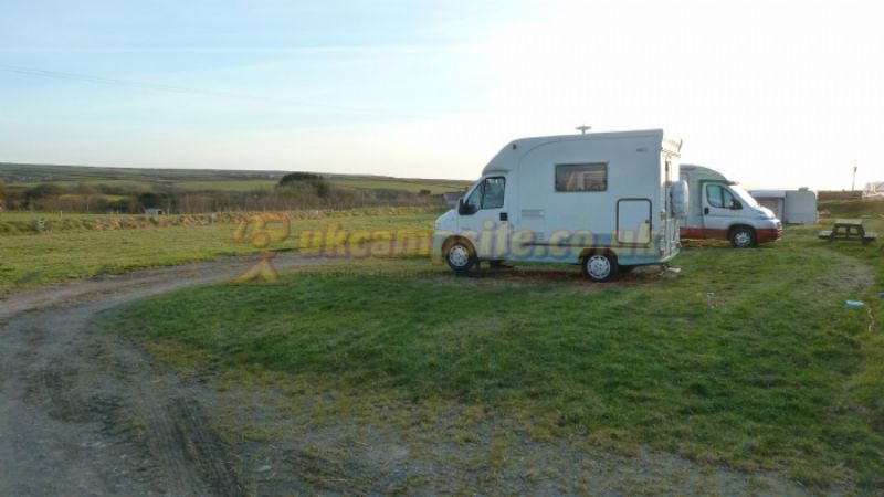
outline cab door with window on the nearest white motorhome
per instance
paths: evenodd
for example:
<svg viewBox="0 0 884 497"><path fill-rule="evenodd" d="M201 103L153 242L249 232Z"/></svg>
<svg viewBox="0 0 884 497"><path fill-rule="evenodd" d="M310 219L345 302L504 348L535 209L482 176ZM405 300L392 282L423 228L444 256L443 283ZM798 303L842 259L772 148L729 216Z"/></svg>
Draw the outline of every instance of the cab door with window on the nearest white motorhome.
<svg viewBox="0 0 884 497"><path fill-rule="evenodd" d="M503 258L508 251L509 214L506 177L490 176L459 209L461 234L473 242L480 258Z"/></svg>

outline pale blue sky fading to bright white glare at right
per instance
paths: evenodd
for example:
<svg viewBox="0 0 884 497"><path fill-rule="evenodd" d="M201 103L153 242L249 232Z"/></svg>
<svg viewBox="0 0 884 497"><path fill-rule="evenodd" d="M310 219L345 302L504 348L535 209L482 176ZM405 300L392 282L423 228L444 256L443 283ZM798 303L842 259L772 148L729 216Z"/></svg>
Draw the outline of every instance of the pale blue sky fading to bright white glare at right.
<svg viewBox="0 0 884 497"><path fill-rule="evenodd" d="M0 161L474 179L663 128L750 188L884 181L867 1L0 0Z"/></svg>

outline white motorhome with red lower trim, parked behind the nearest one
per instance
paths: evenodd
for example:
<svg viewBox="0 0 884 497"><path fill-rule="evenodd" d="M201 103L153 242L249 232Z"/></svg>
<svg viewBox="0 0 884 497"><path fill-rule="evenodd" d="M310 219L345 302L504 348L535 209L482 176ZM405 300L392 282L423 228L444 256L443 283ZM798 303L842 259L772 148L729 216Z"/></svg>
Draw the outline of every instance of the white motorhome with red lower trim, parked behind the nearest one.
<svg viewBox="0 0 884 497"><path fill-rule="evenodd" d="M683 239L723 239L746 248L782 236L782 222L774 212L720 172L683 165L681 178L691 192L681 223Z"/></svg>

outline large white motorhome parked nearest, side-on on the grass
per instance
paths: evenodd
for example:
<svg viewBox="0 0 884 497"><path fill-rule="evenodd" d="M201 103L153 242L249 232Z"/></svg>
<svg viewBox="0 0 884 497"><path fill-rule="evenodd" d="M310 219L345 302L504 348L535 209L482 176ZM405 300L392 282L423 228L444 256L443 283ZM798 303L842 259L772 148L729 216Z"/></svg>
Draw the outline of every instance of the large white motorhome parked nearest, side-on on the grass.
<svg viewBox="0 0 884 497"><path fill-rule="evenodd" d="M435 222L433 254L455 272L480 261L579 263L592 281L678 253L682 141L663 130L517 139Z"/></svg>

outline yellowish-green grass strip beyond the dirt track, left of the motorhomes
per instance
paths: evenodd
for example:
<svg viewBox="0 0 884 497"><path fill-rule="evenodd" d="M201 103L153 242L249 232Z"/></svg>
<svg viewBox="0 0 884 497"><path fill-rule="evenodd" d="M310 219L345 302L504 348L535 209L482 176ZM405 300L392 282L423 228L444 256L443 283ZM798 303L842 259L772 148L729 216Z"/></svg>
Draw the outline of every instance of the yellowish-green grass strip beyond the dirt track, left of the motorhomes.
<svg viewBox="0 0 884 497"><path fill-rule="evenodd" d="M429 234L438 212L369 209L319 212L319 218L298 219L301 214L285 213L292 219L290 234L278 236L280 240L273 240L264 248L296 250L304 231L322 231L333 224L341 230L368 231L372 236L375 232L382 234L388 230ZM0 235L0 295L66 279L186 264L224 255L254 254L260 248L234 236L239 214L224 216L223 222L190 216L194 218L190 223L188 216L175 218L80 215L57 224L57 230ZM52 228L53 222L60 221L48 221L48 225ZM119 229L120 223L131 229ZM281 233L278 225L269 225L267 230ZM274 237L277 236L274 234Z"/></svg>

